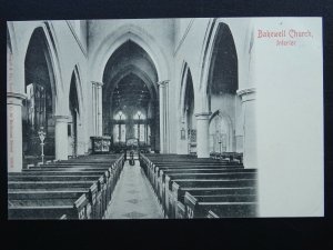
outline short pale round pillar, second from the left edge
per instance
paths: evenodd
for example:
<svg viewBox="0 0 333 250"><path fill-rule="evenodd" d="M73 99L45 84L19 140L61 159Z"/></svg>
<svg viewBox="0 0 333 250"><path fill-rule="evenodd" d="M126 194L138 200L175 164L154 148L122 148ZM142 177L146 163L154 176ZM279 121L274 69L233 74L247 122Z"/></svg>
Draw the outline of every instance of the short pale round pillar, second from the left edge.
<svg viewBox="0 0 333 250"><path fill-rule="evenodd" d="M54 116L56 160L68 160L68 118L67 116Z"/></svg>

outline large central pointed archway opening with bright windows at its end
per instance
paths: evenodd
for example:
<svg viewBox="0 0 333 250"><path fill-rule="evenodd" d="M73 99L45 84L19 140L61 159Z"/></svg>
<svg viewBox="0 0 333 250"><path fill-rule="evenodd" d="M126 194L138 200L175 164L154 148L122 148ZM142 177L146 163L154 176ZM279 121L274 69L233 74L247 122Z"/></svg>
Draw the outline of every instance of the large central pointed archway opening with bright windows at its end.
<svg viewBox="0 0 333 250"><path fill-rule="evenodd" d="M112 137L112 149L137 139L141 149L159 151L158 73L147 51L124 42L110 57L103 82L103 134Z"/></svg>

